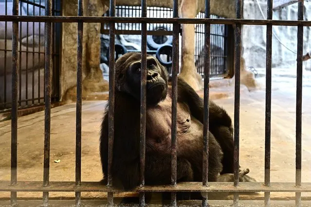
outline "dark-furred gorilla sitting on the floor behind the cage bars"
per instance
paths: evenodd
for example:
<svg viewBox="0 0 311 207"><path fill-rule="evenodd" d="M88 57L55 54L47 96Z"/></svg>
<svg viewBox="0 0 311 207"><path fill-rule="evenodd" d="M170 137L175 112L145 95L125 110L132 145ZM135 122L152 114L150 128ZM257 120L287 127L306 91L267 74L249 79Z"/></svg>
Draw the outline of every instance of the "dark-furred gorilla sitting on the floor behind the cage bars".
<svg viewBox="0 0 311 207"><path fill-rule="evenodd" d="M145 184L171 183L172 86L168 72L147 55ZM113 185L139 186L141 53L128 52L115 63ZM177 81L177 182L202 182L203 99L183 79ZM100 134L102 171L108 173L108 104ZM234 139L227 112L209 101L208 181L234 181ZM247 169L248 170L248 169ZM240 170L240 181L255 181Z"/></svg>

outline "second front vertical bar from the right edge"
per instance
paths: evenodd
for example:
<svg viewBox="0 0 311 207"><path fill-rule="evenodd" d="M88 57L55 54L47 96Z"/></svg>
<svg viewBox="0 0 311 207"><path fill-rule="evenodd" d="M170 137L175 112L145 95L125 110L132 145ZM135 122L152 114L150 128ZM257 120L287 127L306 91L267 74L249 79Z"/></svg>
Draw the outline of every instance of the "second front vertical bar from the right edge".
<svg viewBox="0 0 311 207"><path fill-rule="evenodd" d="M273 0L267 2L267 19L272 19ZM267 25L266 41L266 117L265 117L265 185L270 187L271 150L271 64L272 64L272 24ZM265 206L270 206L270 192L265 192Z"/></svg>

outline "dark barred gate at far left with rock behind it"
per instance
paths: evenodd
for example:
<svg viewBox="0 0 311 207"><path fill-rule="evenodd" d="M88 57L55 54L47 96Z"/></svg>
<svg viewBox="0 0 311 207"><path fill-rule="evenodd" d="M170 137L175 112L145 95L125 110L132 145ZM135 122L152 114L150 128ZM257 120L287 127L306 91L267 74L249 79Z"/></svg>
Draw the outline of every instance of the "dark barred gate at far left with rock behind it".
<svg viewBox="0 0 311 207"><path fill-rule="evenodd" d="M12 15L14 0L0 0L0 15ZM20 0L18 15L42 16L46 10L45 0ZM53 16L61 16L61 1L53 0ZM0 57L0 113L11 110L11 78L12 78L12 22L0 22L1 30ZM44 76L45 76L45 42L44 22L20 21L19 26L19 81L18 81L18 109L44 104ZM52 26L52 102L59 100L59 69L61 23ZM3 47L2 47L3 46Z"/></svg>

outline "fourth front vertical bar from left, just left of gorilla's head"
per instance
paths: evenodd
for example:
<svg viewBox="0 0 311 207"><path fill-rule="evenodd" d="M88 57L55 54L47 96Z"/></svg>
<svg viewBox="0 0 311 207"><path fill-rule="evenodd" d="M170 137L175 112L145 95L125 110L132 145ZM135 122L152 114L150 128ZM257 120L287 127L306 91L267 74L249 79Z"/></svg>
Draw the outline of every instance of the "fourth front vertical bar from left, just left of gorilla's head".
<svg viewBox="0 0 311 207"><path fill-rule="evenodd" d="M115 16L115 0L110 0L109 17ZM114 139L114 42L115 42L115 23L109 24L109 139L108 139L108 186L112 187L112 156ZM108 206L113 206L113 192L108 192Z"/></svg>

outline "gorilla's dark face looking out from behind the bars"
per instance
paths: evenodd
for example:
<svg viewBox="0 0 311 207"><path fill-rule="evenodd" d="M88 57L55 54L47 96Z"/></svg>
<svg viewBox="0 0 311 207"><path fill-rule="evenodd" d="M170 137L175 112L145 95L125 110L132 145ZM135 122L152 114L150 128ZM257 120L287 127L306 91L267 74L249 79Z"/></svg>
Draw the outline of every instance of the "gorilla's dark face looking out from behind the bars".
<svg viewBox="0 0 311 207"><path fill-rule="evenodd" d="M167 71L152 56L147 56L146 102L156 105L167 94ZM140 101L141 60L133 61L127 69L127 84L130 93Z"/></svg>

